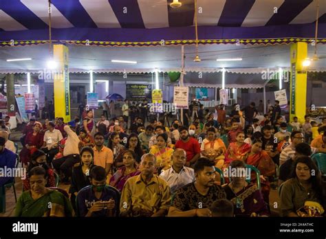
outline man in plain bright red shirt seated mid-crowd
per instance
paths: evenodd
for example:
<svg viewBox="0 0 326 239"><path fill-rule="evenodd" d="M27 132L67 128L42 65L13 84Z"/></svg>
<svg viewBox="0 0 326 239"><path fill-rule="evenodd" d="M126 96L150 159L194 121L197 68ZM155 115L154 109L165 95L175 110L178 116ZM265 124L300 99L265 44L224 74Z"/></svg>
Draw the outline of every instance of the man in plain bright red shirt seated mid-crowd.
<svg viewBox="0 0 326 239"><path fill-rule="evenodd" d="M196 139L188 134L188 128L181 126L179 129L180 139L175 143L175 148L182 148L187 153L186 166L194 164L200 157L200 146Z"/></svg>

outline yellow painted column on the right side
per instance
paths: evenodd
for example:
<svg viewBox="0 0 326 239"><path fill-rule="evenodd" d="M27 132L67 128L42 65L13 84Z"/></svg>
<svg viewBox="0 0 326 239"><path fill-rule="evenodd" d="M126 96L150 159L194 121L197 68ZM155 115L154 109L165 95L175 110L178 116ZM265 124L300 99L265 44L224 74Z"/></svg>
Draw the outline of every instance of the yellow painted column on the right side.
<svg viewBox="0 0 326 239"><path fill-rule="evenodd" d="M290 120L298 117L304 122L307 101L307 71L303 69L303 60L307 58L307 43L294 43L290 48Z"/></svg>

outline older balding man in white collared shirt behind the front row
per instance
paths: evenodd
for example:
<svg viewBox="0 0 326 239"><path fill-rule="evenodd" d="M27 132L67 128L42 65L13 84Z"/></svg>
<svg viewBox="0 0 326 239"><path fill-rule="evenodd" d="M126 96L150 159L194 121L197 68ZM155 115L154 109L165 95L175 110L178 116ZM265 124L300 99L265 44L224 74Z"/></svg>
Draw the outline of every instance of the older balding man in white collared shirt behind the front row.
<svg viewBox="0 0 326 239"><path fill-rule="evenodd" d="M195 172L193 169L184 166L186 159L186 151L182 148L176 148L171 157L171 168L160 174L160 177L168 183L171 194L174 194L184 185L195 181Z"/></svg>

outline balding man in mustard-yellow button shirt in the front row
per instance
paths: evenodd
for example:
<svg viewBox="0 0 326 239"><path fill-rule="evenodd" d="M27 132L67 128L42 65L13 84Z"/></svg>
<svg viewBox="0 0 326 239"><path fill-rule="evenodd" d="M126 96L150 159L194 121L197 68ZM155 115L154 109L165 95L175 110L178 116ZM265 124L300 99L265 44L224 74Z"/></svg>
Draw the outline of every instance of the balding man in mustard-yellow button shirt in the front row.
<svg viewBox="0 0 326 239"><path fill-rule="evenodd" d="M121 216L165 216L171 203L169 185L154 175L154 155L142 155L140 174L127 180L120 201Z"/></svg>

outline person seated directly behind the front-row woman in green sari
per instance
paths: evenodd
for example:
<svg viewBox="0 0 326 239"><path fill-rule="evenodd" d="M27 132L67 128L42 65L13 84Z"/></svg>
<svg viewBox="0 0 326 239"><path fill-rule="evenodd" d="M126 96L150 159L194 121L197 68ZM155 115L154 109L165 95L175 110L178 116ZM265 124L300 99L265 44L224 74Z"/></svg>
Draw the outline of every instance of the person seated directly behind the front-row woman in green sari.
<svg viewBox="0 0 326 239"><path fill-rule="evenodd" d="M41 150L36 150L32 154L32 158L30 159L30 164L28 166L26 178L23 179L23 191L30 190L30 171L35 167L42 167L47 172L47 183L46 187L55 187L56 179L54 177L54 172L52 168L49 168L46 163L46 155L45 152Z"/></svg>

